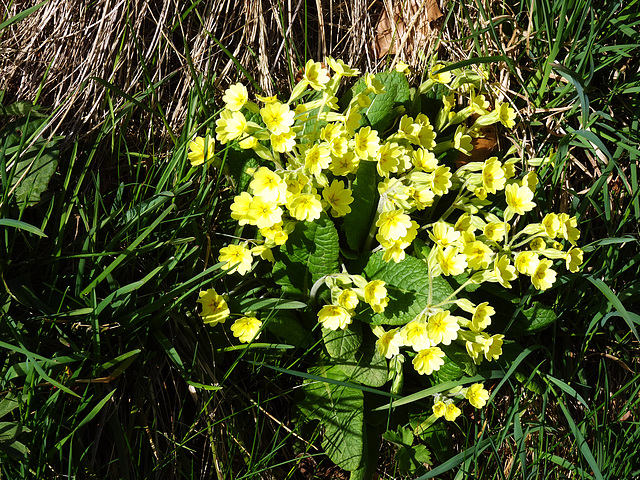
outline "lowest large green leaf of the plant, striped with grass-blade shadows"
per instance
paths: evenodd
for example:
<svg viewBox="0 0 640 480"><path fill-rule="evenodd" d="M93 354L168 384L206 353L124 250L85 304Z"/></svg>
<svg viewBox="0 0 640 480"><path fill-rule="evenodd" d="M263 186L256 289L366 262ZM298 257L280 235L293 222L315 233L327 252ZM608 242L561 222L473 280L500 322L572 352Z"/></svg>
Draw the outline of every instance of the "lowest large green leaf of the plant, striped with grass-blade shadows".
<svg viewBox="0 0 640 480"><path fill-rule="evenodd" d="M343 380L336 367L318 365L309 373ZM305 381L305 399L298 404L310 420L319 420L324 427L322 447L340 468L356 470L362 462L364 450L364 395L361 390L325 383Z"/></svg>

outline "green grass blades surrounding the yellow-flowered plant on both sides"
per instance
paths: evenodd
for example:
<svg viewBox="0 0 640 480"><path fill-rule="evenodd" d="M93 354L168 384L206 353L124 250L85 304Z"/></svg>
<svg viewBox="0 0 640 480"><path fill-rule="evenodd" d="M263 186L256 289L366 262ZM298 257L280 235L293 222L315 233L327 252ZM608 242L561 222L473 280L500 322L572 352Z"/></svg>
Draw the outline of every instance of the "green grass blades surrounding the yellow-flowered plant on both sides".
<svg viewBox="0 0 640 480"><path fill-rule="evenodd" d="M499 365L508 375L494 385L493 407L453 427L449 456L420 478L640 475L638 8L448 5L446 26L463 33L456 42L475 56L503 57L491 64L493 78L508 72L507 97L531 112L517 133L523 155L557 151L540 172L540 211L578 212L587 247L581 273L535 297L558 320L516 338L526 355L512 370ZM514 32L521 40L509 49ZM105 103L118 106L91 136L48 136L64 105L3 100L0 471L303 478L297 465L308 457L320 462L319 478L330 478L319 432L293 422L294 371L305 371L313 349L225 351L225 334L195 313L197 292L214 284L247 298L263 293L224 279L216 265L218 246L235 234L230 170L202 175L186 161L188 141L214 127L216 90L199 80L184 128L166 135L155 65L142 61L149 74L135 98L99 80ZM147 134L130 138L143 112L153 119ZM40 181L29 180L33 172L19 180L27 164ZM523 303L533 298L523 292ZM436 450L433 439L420 441ZM400 478L385 445L380 478Z"/></svg>

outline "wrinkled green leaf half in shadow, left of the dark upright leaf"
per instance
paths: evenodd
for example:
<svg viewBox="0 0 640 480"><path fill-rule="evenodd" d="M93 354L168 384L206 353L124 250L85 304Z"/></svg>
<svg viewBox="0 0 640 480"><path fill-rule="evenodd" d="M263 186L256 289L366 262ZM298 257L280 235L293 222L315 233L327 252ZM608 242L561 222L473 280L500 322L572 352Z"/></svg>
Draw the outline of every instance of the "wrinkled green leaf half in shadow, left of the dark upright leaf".
<svg viewBox="0 0 640 480"><path fill-rule="evenodd" d="M320 277L338 271L339 253L338 231L325 213L314 222L299 222L276 252L276 283L283 293L306 296Z"/></svg>

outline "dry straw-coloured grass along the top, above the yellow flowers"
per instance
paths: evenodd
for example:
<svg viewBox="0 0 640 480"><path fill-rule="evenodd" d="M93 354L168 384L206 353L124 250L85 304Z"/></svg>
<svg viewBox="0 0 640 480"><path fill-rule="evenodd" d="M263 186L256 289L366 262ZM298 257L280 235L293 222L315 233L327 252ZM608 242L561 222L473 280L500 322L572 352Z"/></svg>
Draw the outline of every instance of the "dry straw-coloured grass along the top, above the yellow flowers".
<svg viewBox="0 0 640 480"><path fill-rule="evenodd" d="M3 20L36 3L4 0ZM442 23L433 8L433 0L51 1L0 32L0 89L6 100L64 105L53 130L82 134L109 115L98 77L130 96L147 92L142 103L160 106L176 131L194 76L220 91L243 77L234 59L267 94L288 90L306 59L327 55L373 72L399 60L420 71ZM111 100L115 109L127 101Z"/></svg>

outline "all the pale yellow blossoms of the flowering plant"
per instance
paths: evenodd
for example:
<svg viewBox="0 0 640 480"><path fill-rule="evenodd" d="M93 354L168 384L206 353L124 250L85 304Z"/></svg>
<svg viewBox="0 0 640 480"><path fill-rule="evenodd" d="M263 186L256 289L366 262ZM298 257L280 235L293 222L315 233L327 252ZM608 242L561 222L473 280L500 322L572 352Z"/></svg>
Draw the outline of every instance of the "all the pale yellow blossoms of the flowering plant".
<svg viewBox="0 0 640 480"><path fill-rule="evenodd" d="M576 217L550 213L540 222L523 221L522 216L536 208L538 178L534 172L517 177L519 158L494 156L454 170L445 155L451 150L469 155L473 139L482 136L488 125L515 125L517 115L508 103L492 105L480 93L482 75L434 65L418 91L444 86L449 94L442 98L440 110L429 117L408 115L398 107L389 112L397 118L382 132L367 125L366 115L377 96L385 93L385 85L365 73L359 89L339 108L336 95L341 80L360 72L332 58L326 64L308 61L286 102L258 96L254 103L239 83L224 94L215 139L251 150L269 165L246 172L252 176L247 191L231 205L231 217L259 234L250 242L220 249L218 258L227 273L247 274L258 256L273 261L271 249L285 245L298 222L349 215L355 175L367 162L371 171L375 166L377 175L371 181L377 183L379 198L367 248L375 241L373 249L381 250L386 262L402 262L420 235L432 278L468 273L469 283L495 282L511 288L519 276L526 276L535 289L546 290L556 280L555 260L564 260L570 272L578 271L583 252L576 246L580 238ZM213 158L213 143L208 136L191 143L192 165ZM434 218L436 209L431 207L436 205L439 214ZM349 328L361 302L376 313L384 312L389 303L385 282L379 279L340 273L323 277L321 283L329 287L331 300L320 308L318 321L329 330ZM228 309L224 313L226 304L223 308L220 299L208 292L199 300L201 315L208 323L223 322L229 314ZM401 349L407 348L421 375L439 370L447 346L454 343L476 364L498 359L504 335L485 331L494 308L487 302L453 298L427 305L405 325L389 330L372 327L379 354L403 359ZM460 309L456 315L451 313L453 304ZM246 342L257 338L260 328L259 320L247 316L236 321L232 331ZM460 414L454 397L482 408L489 394L482 384L450 392L448 397L437 397L434 415L454 420Z"/></svg>

